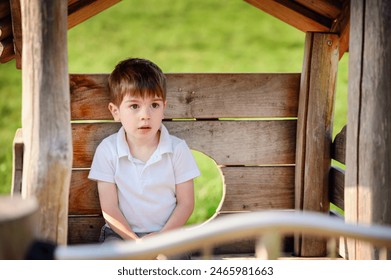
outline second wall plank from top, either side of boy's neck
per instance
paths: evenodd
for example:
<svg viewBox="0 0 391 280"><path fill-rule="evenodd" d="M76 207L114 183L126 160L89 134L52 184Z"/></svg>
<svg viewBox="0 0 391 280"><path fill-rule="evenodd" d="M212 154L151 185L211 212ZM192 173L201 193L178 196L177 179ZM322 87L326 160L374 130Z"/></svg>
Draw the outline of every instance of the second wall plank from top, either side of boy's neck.
<svg viewBox="0 0 391 280"><path fill-rule="evenodd" d="M219 165L294 164L296 121L164 122L172 135L185 139ZM118 123L74 123L73 166L89 168L97 145L116 132Z"/></svg>

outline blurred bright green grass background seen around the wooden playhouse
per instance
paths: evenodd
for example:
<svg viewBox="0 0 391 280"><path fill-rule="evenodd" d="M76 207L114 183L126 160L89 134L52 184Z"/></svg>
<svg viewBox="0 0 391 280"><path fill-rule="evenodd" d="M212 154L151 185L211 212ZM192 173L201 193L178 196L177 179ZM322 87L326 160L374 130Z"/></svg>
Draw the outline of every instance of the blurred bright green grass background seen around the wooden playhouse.
<svg viewBox="0 0 391 280"><path fill-rule="evenodd" d="M126 57L148 58L170 73L301 72L304 39L242 0L125 0L68 31L69 72L108 73ZM334 135L346 123L347 54L339 64ZM15 62L0 65L0 194L11 188L21 91ZM190 222L209 217L222 193L218 168L196 157L203 172L196 203L203 207Z"/></svg>

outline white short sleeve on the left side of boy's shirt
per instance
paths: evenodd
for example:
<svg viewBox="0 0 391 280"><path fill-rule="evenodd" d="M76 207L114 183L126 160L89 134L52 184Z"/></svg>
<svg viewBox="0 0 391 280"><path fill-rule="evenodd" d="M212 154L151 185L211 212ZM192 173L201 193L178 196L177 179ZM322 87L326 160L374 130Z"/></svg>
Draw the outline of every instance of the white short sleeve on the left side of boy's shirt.
<svg viewBox="0 0 391 280"><path fill-rule="evenodd" d="M102 141L96 148L88 179L115 183L115 161L113 147L109 141Z"/></svg>

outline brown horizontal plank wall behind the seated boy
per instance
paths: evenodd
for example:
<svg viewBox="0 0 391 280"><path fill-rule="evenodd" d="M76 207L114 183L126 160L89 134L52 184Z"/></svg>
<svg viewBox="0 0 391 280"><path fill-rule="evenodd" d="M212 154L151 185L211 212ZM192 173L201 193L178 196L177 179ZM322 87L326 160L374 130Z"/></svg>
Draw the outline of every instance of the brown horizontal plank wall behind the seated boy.
<svg viewBox="0 0 391 280"><path fill-rule="evenodd" d="M167 79L164 124L222 170L225 197L218 213L293 209L300 74L167 74ZM96 146L120 124L107 121L112 117L106 74L71 75L70 84L68 241L86 243L97 240L103 224L96 184L87 179L90 164Z"/></svg>

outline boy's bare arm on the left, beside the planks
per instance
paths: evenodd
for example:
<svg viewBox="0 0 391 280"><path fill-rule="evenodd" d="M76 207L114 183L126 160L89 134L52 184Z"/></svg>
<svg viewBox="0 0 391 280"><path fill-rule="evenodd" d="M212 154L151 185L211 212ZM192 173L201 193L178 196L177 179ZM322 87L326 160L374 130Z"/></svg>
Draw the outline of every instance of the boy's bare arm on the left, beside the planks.
<svg viewBox="0 0 391 280"><path fill-rule="evenodd" d="M98 181L98 192L103 217L110 228L125 240L139 239L118 207L117 187L115 184Z"/></svg>

